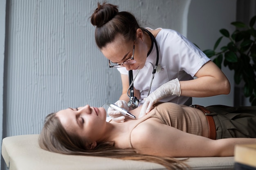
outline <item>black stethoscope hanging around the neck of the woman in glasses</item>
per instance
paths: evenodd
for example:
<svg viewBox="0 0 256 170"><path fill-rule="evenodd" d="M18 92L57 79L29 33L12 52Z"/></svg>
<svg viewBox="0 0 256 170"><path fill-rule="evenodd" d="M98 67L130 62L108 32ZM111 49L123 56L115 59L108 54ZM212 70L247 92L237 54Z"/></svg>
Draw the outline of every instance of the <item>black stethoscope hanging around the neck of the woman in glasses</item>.
<svg viewBox="0 0 256 170"><path fill-rule="evenodd" d="M153 36L152 33L150 33L147 29L145 28L141 28L143 31L147 32L148 35L150 36L150 39L151 39L151 48L150 50L148 51L148 54L147 54L147 57L148 55L150 54L150 52L152 51L153 49L153 46L154 46L154 43L155 43L155 48L156 48L156 51L157 51L157 60L155 62L155 66L153 66L153 72L152 72L152 77L151 77L151 81L150 81L150 86L149 86L149 90L148 90L148 95L150 93L150 89L151 89L151 85L152 85L152 82L153 82L153 79L155 77L155 72L159 72L157 70L161 69L161 66L158 65L158 60L159 60L159 50L158 50L158 46L157 46L157 41L155 40L155 37ZM139 70L137 70L137 73L136 73L136 76L135 78L137 77L139 73ZM135 96L134 96L134 90L133 90L133 82L135 81L135 78L133 79L133 74L132 74L132 70L129 70L129 88L127 90L127 95L128 97L130 98L129 102L128 102L128 107L131 107L132 109L135 109L138 107L139 103L143 104L142 102L140 102ZM130 95L129 95L129 90L130 90Z"/></svg>

